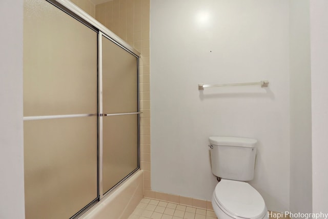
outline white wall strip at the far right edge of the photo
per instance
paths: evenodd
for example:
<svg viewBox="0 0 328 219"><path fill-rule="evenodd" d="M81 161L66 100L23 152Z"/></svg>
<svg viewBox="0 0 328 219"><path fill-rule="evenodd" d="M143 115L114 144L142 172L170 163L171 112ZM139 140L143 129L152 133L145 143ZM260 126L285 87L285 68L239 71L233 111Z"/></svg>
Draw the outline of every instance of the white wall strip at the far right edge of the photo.
<svg viewBox="0 0 328 219"><path fill-rule="evenodd" d="M328 1L310 1L313 212L328 213Z"/></svg>

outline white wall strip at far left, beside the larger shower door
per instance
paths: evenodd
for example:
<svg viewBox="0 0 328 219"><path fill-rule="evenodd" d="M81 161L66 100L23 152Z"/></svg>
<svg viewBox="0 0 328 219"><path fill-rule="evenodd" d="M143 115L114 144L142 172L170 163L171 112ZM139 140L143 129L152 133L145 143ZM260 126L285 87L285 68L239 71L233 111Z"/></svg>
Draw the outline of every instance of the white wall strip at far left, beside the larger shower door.
<svg viewBox="0 0 328 219"><path fill-rule="evenodd" d="M1 0L0 218L25 218L23 0Z"/></svg>

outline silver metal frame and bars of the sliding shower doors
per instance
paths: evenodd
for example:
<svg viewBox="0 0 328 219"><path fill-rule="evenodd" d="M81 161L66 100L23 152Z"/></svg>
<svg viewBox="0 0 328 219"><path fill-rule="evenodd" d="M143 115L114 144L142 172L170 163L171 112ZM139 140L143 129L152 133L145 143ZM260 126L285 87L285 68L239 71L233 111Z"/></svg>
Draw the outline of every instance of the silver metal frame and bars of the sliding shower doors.
<svg viewBox="0 0 328 219"><path fill-rule="evenodd" d="M73 18L77 19L79 22L88 26L98 33L98 98L97 98L97 108L98 108L98 196L97 200L92 201L86 207L81 209L71 218L77 218L81 214L85 213L88 209L90 209L93 205L95 205L98 201L103 199L106 195L108 195L113 189L115 189L118 185L124 182L129 176L131 176L134 172L136 172L140 168L140 97L139 97L139 58L140 52L126 43L123 39L117 36L115 33L106 28L103 24L96 21L91 15L81 10L79 7L74 5L72 2L68 0L45 0L58 9L64 11L69 14ZM103 72L102 72L102 37L105 36L111 42L115 43L121 49L126 50L133 56L137 58L137 112L127 112L127 113L112 113L112 114L104 114L103 113ZM134 169L130 174L126 177L122 178L114 187L112 187L109 191L103 194L103 117L104 116L115 116L115 115L129 115L129 114L138 114L137 117L137 168ZM76 115L58 115L58 116L26 116L24 120L38 120L38 119L51 119L51 118L59 118L59 117L85 117L85 116L94 116L95 114L76 114Z"/></svg>

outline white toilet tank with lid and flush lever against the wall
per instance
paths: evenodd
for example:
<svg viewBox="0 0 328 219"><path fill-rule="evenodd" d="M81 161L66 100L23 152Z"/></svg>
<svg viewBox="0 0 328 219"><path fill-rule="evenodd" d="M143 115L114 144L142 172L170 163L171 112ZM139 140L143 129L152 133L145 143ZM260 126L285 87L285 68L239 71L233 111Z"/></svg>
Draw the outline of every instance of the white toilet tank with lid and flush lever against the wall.
<svg viewBox="0 0 328 219"><path fill-rule="evenodd" d="M237 181L250 181L254 177L255 144L245 137L209 137L211 163L214 175Z"/></svg>

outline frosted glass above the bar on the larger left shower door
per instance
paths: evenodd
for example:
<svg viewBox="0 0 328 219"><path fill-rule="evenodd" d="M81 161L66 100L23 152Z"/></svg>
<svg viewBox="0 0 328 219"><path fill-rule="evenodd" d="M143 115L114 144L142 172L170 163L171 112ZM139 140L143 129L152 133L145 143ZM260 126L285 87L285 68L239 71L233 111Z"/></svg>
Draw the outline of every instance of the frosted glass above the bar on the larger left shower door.
<svg viewBox="0 0 328 219"><path fill-rule="evenodd" d="M24 116L96 113L97 33L45 0L24 7Z"/></svg>

